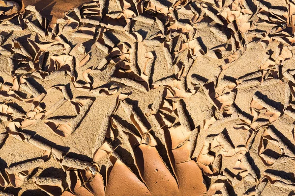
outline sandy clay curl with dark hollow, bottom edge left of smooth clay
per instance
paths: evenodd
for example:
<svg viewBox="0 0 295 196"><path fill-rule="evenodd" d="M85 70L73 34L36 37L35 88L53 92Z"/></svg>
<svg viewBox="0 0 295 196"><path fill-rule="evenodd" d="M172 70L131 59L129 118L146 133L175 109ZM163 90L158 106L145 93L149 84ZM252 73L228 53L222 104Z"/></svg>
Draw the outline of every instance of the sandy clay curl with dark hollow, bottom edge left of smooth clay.
<svg viewBox="0 0 295 196"><path fill-rule="evenodd" d="M35 177L34 183L41 190L45 191L50 196L58 196L63 192L60 178L52 177Z"/></svg>

